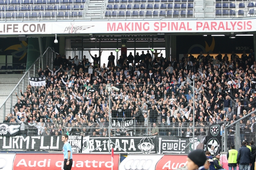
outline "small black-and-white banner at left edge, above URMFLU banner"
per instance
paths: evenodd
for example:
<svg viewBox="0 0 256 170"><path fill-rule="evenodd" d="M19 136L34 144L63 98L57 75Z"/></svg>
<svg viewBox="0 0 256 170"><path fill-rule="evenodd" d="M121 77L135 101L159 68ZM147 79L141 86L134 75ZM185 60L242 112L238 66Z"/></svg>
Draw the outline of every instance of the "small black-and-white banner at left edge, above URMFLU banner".
<svg viewBox="0 0 256 170"><path fill-rule="evenodd" d="M16 136L20 131L18 123L0 123L0 136Z"/></svg>

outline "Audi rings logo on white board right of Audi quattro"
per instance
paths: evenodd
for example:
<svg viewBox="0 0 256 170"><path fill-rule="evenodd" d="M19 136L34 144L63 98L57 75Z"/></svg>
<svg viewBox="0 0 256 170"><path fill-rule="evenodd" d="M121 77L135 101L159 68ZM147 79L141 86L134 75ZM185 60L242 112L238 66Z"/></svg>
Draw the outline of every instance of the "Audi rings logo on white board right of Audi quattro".
<svg viewBox="0 0 256 170"><path fill-rule="evenodd" d="M124 164L126 170L149 170L153 164L152 159L131 159Z"/></svg>

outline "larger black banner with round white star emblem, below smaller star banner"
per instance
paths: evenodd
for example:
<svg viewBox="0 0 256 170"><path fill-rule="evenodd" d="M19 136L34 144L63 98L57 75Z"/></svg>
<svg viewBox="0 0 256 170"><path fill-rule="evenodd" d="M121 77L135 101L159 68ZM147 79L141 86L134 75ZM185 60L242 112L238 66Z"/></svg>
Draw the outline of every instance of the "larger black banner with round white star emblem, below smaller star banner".
<svg viewBox="0 0 256 170"><path fill-rule="evenodd" d="M206 151L211 152L212 156L220 153L221 150L221 137L206 137Z"/></svg>

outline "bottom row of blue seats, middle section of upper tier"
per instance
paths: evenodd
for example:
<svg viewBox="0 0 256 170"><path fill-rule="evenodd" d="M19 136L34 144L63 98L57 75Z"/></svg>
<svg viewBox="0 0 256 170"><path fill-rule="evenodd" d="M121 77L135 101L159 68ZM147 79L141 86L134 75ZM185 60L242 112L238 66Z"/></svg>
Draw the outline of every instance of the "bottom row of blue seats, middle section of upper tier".
<svg viewBox="0 0 256 170"><path fill-rule="evenodd" d="M126 11L126 13L124 13L124 11L113 11L112 13L110 11L106 11L105 16L144 16L144 14L146 14L146 16L158 16L158 11L147 11L146 13L144 13L144 11L133 11L132 13L130 11ZM160 16L193 16L193 11L188 10L188 12L186 11L177 11L174 10L174 12L172 12L172 10L170 11L160 11Z"/></svg>

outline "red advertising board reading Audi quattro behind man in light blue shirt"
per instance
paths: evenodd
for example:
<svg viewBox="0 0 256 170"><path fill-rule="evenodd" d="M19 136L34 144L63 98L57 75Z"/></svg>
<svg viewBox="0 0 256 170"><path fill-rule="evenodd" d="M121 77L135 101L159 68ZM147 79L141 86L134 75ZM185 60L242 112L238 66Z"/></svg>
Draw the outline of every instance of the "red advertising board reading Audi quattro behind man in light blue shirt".
<svg viewBox="0 0 256 170"><path fill-rule="evenodd" d="M111 162L111 154L73 154L72 170L118 170L119 157ZM16 154L13 170L60 170L63 162L63 154Z"/></svg>

